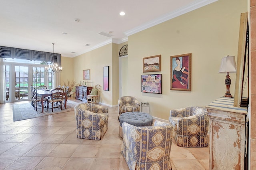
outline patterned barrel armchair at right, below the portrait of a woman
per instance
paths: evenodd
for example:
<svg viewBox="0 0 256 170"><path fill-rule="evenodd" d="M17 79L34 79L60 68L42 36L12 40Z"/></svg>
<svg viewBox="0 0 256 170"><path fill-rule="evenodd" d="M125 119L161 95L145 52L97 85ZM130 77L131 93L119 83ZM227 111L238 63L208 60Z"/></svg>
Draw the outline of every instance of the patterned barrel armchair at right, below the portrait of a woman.
<svg viewBox="0 0 256 170"><path fill-rule="evenodd" d="M170 123L174 126L172 137L180 147L208 146L207 110L203 107L186 107L170 111Z"/></svg>

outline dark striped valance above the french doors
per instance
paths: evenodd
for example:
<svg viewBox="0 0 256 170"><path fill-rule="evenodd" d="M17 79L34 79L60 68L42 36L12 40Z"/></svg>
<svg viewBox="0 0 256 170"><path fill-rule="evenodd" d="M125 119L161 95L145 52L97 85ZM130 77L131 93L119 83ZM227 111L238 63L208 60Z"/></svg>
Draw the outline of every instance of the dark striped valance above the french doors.
<svg viewBox="0 0 256 170"><path fill-rule="evenodd" d="M17 59L28 59L30 61L50 61L57 63L61 66L60 54L48 53L43 51L34 51L30 49L20 49L14 47L0 46L0 58L17 58Z"/></svg>

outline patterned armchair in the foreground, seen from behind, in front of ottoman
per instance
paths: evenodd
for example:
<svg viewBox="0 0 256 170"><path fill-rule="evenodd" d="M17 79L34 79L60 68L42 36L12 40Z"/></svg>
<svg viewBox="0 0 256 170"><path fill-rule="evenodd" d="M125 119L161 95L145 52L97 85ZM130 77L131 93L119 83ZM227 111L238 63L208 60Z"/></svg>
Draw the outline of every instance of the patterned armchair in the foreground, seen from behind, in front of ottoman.
<svg viewBox="0 0 256 170"><path fill-rule="evenodd" d="M153 127L123 123L122 155L130 170L171 170L172 125L155 121Z"/></svg>

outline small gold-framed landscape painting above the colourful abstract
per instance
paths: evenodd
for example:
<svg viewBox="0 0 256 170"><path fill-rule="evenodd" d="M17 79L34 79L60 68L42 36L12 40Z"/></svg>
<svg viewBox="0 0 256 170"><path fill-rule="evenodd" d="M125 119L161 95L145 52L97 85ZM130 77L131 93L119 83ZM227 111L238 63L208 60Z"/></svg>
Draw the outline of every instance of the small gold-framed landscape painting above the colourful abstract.
<svg viewBox="0 0 256 170"><path fill-rule="evenodd" d="M143 73L161 71L161 55L143 58Z"/></svg>

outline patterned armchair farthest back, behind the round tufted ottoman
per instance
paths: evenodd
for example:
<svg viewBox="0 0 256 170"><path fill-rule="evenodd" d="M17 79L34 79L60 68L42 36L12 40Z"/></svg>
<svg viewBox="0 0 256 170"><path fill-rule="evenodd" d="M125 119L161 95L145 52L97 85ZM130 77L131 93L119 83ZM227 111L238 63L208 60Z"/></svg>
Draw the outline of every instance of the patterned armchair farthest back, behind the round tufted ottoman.
<svg viewBox="0 0 256 170"><path fill-rule="evenodd" d="M140 103L135 97L132 96L123 96L118 99L118 110L119 116L125 112L139 112L140 111ZM118 120L117 119L117 120Z"/></svg>

